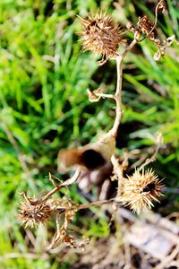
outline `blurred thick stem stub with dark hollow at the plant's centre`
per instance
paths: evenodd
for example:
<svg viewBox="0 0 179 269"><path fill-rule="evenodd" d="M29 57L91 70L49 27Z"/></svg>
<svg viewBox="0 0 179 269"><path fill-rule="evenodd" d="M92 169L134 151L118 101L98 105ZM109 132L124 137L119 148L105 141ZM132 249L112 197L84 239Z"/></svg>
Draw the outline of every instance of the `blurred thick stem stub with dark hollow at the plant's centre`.
<svg viewBox="0 0 179 269"><path fill-rule="evenodd" d="M61 150L58 153L58 172L62 173L73 165L94 170L110 161L115 152L115 136L106 134L97 143L89 143L79 149Z"/></svg>

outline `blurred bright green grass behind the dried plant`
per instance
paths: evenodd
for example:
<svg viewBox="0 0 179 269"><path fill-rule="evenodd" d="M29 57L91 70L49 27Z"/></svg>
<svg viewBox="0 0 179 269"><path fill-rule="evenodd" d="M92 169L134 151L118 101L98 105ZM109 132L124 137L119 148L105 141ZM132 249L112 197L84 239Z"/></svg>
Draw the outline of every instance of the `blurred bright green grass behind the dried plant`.
<svg viewBox="0 0 179 269"><path fill-rule="evenodd" d="M125 26L144 13L154 19L155 2L0 1L0 268L68 268L75 261L73 257L61 263L55 255L39 258L43 237L49 235L39 229L29 230L27 236L17 220L17 208L22 190L33 196L51 189L47 174L56 174L61 148L89 143L113 125L114 103L91 104L86 89L115 91L115 61L98 67L95 56L81 52L76 14L107 9ZM163 38L175 34L179 39L178 5L168 0L166 13L159 15ZM165 214L179 210L179 47L174 43L159 62L153 59L155 52L145 40L125 59L118 153L147 152L154 144L152 135L163 134L166 149L152 167L165 178L166 197L158 208ZM75 186L68 195L85 201ZM97 216L99 212L93 210ZM105 216L82 223L88 235L108 235Z"/></svg>

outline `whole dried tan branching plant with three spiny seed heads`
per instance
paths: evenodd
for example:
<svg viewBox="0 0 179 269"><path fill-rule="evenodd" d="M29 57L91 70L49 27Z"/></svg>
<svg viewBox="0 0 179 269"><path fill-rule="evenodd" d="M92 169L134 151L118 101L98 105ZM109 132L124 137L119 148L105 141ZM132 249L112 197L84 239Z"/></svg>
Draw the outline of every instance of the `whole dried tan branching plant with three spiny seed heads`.
<svg viewBox="0 0 179 269"><path fill-rule="evenodd" d="M115 93L104 93L100 88L94 91L87 90L89 100L98 102L102 99L110 99L115 101L115 121L112 128L101 137L96 143L89 143L81 148L64 149L58 154L57 164L58 172L62 173L68 169L75 169L72 178L67 179L63 183L59 178L52 176L49 173L49 180L54 188L41 198L38 196L31 199L25 193L21 195L25 199L25 203L20 205L21 223L25 227L34 227L38 223L45 223L52 215L56 219L56 232L48 249L55 248L61 243L65 243L71 247L85 247L89 239L82 242L77 242L76 239L68 230L69 223L72 221L75 213L81 209L90 208L91 206L102 206L103 204L124 204L129 206L134 213L141 213L146 207L153 206L153 202L158 202L158 198L162 195L161 180L153 170L145 170L145 166L150 162L155 161L158 151L162 146L161 136L158 136L156 151L153 155L139 162L141 167L135 169L132 176L124 178L125 173L129 168L129 154L125 155L124 160L119 162L115 156L115 139L118 127L123 116L122 105L122 80L123 80L123 62L124 57L132 50L132 48L143 39L149 39L157 47L159 51L158 59L163 56L166 48L174 41L174 38L166 39L166 43L161 41L156 36L158 12L164 12L165 2L159 1L156 7L156 20L152 22L146 15L139 18L136 27L132 24L128 29L134 34L131 44L127 45L126 39L122 37L121 28L113 21L110 15L106 13L96 14L88 19L81 18L82 31L82 47L83 50L90 50L95 54L102 56L99 65L104 65L108 59L114 58L116 61L117 82ZM164 44L165 43L165 44ZM124 44L124 51L119 53L118 47ZM148 156L146 156L147 158ZM84 171L91 173L92 171L101 171L111 163L113 166L114 176L112 180L117 180L118 191L115 198L107 200L99 200L88 204L75 204L64 198L54 199L53 195L62 187L68 187L76 183ZM136 162L137 163L137 162ZM56 180L58 183L56 183Z"/></svg>

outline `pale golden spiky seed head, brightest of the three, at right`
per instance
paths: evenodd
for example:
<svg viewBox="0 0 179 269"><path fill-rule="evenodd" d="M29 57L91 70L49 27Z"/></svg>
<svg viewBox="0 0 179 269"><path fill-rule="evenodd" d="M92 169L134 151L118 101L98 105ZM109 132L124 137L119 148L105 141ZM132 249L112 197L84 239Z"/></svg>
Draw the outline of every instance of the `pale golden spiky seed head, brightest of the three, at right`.
<svg viewBox="0 0 179 269"><path fill-rule="evenodd" d="M152 201L159 202L162 187L152 169L142 172L136 169L131 177L124 178L121 201L140 214L146 207L153 206Z"/></svg>

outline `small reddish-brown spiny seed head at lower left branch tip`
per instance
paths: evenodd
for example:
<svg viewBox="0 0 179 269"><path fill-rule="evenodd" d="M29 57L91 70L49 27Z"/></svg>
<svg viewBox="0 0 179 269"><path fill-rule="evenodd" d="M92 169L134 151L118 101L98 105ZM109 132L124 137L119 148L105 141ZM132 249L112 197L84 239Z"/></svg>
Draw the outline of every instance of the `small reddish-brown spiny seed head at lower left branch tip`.
<svg viewBox="0 0 179 269"><path fill-rule="evenodd" d="M52 211L46 203L32 205L28 202L21 203L19 219L25 228L28 226L35 227L39 223L48 221Z"/></svg>

